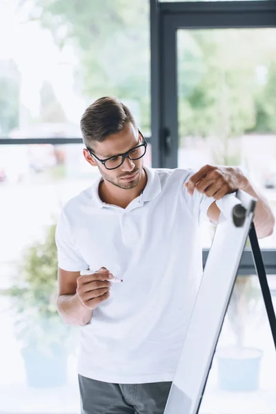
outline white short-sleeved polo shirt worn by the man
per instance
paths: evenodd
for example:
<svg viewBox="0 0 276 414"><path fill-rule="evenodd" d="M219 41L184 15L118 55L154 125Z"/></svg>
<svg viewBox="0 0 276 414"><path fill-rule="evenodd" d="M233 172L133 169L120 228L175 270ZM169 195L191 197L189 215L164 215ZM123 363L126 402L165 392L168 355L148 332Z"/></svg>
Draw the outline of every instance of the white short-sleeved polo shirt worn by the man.
<svg viewBox="0 0 276 414"><path fill-rule="evenodd" d="M145 170L144 193L126 209L101 201L98 179L57 225L60 268L105 266L124 279L81 327L79 374L103 382L173 380L202 275L199 220L215 200L188 194L195 171Z"/></svg>

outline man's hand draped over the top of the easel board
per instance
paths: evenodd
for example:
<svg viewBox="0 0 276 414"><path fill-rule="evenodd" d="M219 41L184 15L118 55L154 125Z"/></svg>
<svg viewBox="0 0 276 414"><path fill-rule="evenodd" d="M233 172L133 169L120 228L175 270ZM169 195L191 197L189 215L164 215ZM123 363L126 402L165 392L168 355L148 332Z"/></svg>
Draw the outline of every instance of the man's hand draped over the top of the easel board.
<svg viewBox="0 0 276 414"><path fill-rule="evenodd" d="M246 186L246 177L238 167L209 166L202 167L184 184L188 193L193 195L196 189L207 197L216 200L226 194L234 193Z"/></svg>

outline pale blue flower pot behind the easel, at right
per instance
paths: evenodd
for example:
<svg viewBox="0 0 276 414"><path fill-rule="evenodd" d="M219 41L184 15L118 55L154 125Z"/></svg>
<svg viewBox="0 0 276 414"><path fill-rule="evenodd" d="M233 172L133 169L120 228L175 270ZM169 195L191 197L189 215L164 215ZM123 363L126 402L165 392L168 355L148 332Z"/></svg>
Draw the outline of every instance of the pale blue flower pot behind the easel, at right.
<svg viewBox="0 0 276 414"><path fill-rule="evenodd" d="M216 352L219 388L255 391L259 388L262 351L255 348L220 348Z"/></svg>

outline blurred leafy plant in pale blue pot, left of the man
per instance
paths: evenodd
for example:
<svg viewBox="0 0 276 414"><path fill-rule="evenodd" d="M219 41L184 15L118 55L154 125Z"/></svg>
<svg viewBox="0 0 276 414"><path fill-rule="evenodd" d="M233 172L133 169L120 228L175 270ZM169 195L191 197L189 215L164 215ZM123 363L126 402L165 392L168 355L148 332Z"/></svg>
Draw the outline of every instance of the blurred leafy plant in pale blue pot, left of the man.
<svg viewBox="0 0 276 414"><path fill-rule="evenodd" d="M16 281L2 292L12 299L27 383L37 388L66 384L67 350L74 339L57 312L55 227L27 248Z"/></svg>

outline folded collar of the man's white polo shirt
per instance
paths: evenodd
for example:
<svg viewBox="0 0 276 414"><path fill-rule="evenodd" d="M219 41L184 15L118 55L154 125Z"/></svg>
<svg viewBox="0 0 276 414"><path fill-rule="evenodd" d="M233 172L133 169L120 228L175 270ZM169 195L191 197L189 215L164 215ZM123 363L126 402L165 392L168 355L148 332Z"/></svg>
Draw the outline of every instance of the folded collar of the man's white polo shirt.
<svg viewBox="0 0 276 414"><path fill-rule="evenodd" d="M145 201L150 201L157 197L159 193L161 193L161 182L158 175L158 172L154 168L145 167L144 170L146 171L146 175L148 177L148 181L146 187L144 188L143 193L141 194L141 198L143 200L143 204ZM91 187L91 195L92 195L92 202L93 206L97 206L98 208L103 208L103 206L108 206L108 204L103 203L99 197L99 184L102 181L102 177L99 177L95 180Z"/></svg>

